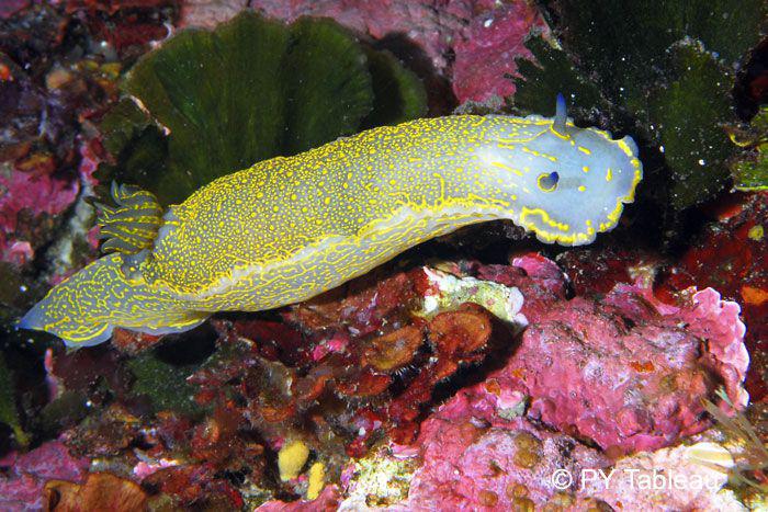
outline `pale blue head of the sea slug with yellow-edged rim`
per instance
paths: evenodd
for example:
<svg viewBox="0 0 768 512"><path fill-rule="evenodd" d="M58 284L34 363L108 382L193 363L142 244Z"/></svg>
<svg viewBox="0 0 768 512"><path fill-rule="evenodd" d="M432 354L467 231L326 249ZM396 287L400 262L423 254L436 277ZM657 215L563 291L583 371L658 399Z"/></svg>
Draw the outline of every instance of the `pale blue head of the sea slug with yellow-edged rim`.
<svg viewBox="0 0 768 512"><path fill-rule="evenodd" d="M590 243L612 229L643 177L631 137L578 128L562 103L554 118L510 118L484 157L515 173L508 182L512 219L539 240L565 246Z"/></svg>

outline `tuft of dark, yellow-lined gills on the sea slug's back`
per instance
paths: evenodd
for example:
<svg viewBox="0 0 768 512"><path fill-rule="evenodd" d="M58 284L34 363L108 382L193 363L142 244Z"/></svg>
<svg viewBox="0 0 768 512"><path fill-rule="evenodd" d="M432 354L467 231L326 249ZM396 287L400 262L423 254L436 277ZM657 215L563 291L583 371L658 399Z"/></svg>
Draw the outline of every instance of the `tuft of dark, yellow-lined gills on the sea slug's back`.
<svg viewBox="0 0 768 512"><path fill-rule="evenodd" d="M116 207L97 203L99 237L106 238L102 251L133 254L150 249L162 223L162 207L155 194L135 185L118 186L112 182L110 195Z"/></svg>

